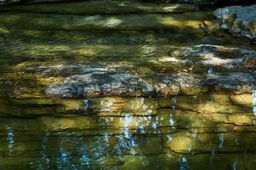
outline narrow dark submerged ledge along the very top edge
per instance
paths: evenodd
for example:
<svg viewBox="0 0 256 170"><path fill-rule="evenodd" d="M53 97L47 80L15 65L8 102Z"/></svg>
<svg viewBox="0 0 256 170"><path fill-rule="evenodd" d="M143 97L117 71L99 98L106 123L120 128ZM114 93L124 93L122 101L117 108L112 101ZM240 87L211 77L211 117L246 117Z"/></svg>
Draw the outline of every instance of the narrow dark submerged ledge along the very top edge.
<svg viewBox="0 0 256 170"><path fill-rule="evenodd" d="M141 3L131 0L122 2L117 0L97 0L70 3L16 4L6 5L0 8L0 11L19 11L40 14L169 14L198 10L199 8L194 4Z"/></svg>

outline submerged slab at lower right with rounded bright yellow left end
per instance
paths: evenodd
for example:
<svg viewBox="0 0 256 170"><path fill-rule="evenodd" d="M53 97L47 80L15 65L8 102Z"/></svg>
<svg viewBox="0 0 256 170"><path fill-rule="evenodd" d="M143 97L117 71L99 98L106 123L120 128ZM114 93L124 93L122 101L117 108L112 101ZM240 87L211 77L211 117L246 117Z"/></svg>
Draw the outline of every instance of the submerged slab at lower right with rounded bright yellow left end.
<svg viewBox="0 0 256 170"><path fill-rule="evenodd" d="M173 133L171 137L164 139L164 146L176 153L210 153L212 150L222 153L241 152L250 150L253 146L254 134L245 133L218 133L218 134L190 134ZM171 138L171 139L170 139Z"/></svg>

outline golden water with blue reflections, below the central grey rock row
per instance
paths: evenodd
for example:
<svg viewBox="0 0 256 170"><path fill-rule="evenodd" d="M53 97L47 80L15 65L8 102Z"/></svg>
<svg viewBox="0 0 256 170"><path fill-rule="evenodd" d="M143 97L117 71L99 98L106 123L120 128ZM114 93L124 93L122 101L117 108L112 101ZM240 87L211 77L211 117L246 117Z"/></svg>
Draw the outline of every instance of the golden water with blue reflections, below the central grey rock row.
<svg viewBox="0 0 256 170"><path fill-rule="evenodd" d="M0 133L5 132L0 164L11 169L250 169L256 158L252 99L254 92L64 101L69 107L82 104L86 114L0 118Z"/></svg>

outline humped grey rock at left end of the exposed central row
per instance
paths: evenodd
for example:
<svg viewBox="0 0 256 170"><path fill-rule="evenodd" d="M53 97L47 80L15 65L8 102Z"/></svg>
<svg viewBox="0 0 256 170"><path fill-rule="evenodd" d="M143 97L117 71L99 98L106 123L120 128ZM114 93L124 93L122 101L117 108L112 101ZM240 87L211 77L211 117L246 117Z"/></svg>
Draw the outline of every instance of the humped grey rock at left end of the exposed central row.
<svg viewBox="0 0 256 170"><path fill-rule="evenodd" d="M50 85L46 94L63 98L111 95L141 96L154 94L154 88L130 74L117 71L95 71L67 77L61 85Z"/></svg>

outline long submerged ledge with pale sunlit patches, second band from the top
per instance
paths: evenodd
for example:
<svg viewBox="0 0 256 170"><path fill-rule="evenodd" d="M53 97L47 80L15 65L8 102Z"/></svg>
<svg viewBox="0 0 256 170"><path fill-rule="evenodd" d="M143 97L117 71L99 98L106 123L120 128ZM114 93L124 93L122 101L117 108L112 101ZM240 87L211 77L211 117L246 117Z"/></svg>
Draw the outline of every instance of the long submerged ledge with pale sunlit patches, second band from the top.
<svg viewBox="0 0 256 170"><path fill-rule="evenodd" d="M207 11L183 14L9 14L0 15L0 22L7 28L48 31L147 31L168 30L178 33L201 34L198 25L211 13ZM26 24L25 24L26 23ZM207 20L210 31L218 29L216 21Z"/></svg>

